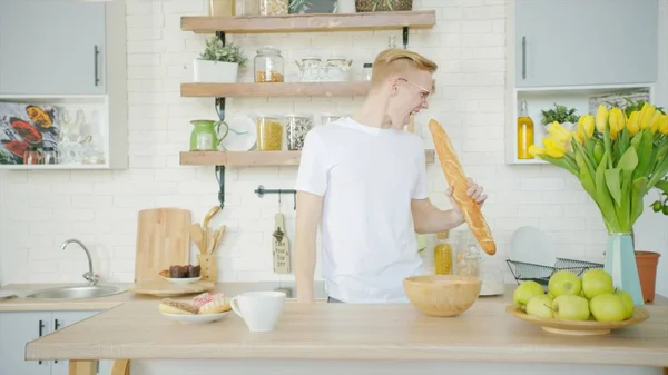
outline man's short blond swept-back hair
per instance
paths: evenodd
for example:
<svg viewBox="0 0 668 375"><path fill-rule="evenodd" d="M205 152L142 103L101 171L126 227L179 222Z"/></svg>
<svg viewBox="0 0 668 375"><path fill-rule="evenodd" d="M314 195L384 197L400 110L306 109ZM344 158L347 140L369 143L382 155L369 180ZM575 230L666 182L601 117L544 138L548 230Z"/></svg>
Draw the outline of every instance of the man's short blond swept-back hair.
<svg viewBox="0 0 668 375"><path fill-rule="evenodd" d="M436 71L439 66L422 55L401 48L389 48L373 61L371 71L371 86L382 83L387 77L401 75L409 69L425 70L430 73Z"/></svg>

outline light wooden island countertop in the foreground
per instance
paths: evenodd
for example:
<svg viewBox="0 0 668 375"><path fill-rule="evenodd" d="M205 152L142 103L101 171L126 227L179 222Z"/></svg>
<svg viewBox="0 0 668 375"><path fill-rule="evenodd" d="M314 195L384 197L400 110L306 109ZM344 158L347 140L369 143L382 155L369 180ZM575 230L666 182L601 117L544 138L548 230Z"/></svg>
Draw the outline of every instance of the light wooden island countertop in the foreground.
<svg viewBox="0 0 668 375"><path fill-rule="evenodd" d="M163 317L157 302L119 305L28 343L27 359L375 359L641 365L668 367L668 306L608 336L561 336L481 297L454 318L410 304L286 304L276 329L250 333L230 313L206 325ZM661 298L661 303L665 298Z"/></svg>

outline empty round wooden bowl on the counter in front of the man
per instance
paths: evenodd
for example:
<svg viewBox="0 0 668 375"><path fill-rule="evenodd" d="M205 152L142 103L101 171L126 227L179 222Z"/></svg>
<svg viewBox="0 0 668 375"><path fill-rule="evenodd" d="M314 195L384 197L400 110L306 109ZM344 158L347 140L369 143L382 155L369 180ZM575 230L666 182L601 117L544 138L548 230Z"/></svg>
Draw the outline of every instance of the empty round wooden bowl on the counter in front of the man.
<svg viewBox="0 0 668 375"><path fill-rule="evenodd" d="M422 313L452 317L473 306L482 280L454 275L411 276L403 279L403 288L411 304Z"/></svg>

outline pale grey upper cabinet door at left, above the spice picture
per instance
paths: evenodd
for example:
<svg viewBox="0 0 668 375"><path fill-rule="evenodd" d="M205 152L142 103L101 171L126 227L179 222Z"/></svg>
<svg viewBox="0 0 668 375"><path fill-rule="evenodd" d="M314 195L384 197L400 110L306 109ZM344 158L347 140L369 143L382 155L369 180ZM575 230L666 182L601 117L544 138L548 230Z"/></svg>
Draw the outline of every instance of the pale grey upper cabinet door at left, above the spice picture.
<svg viewBox="0 0 668 375"><path fill-rule="evenodd" d="M105 2L2 0L0 93L106 93L105 18Z"/></svg>

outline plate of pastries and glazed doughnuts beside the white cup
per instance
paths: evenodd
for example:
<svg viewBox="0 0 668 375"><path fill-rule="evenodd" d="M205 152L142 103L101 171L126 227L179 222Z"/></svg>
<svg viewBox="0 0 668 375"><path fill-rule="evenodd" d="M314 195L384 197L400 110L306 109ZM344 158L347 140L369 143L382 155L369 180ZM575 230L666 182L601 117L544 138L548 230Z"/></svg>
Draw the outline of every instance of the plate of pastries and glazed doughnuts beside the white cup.
<svg viewBox="0 0 668 375"><path fill-rule="evenodd" d="M160 314L180 324L206 324L222 319L232 306L223 293L202 293L190 300L165 298L158 305Z"/></svg>

